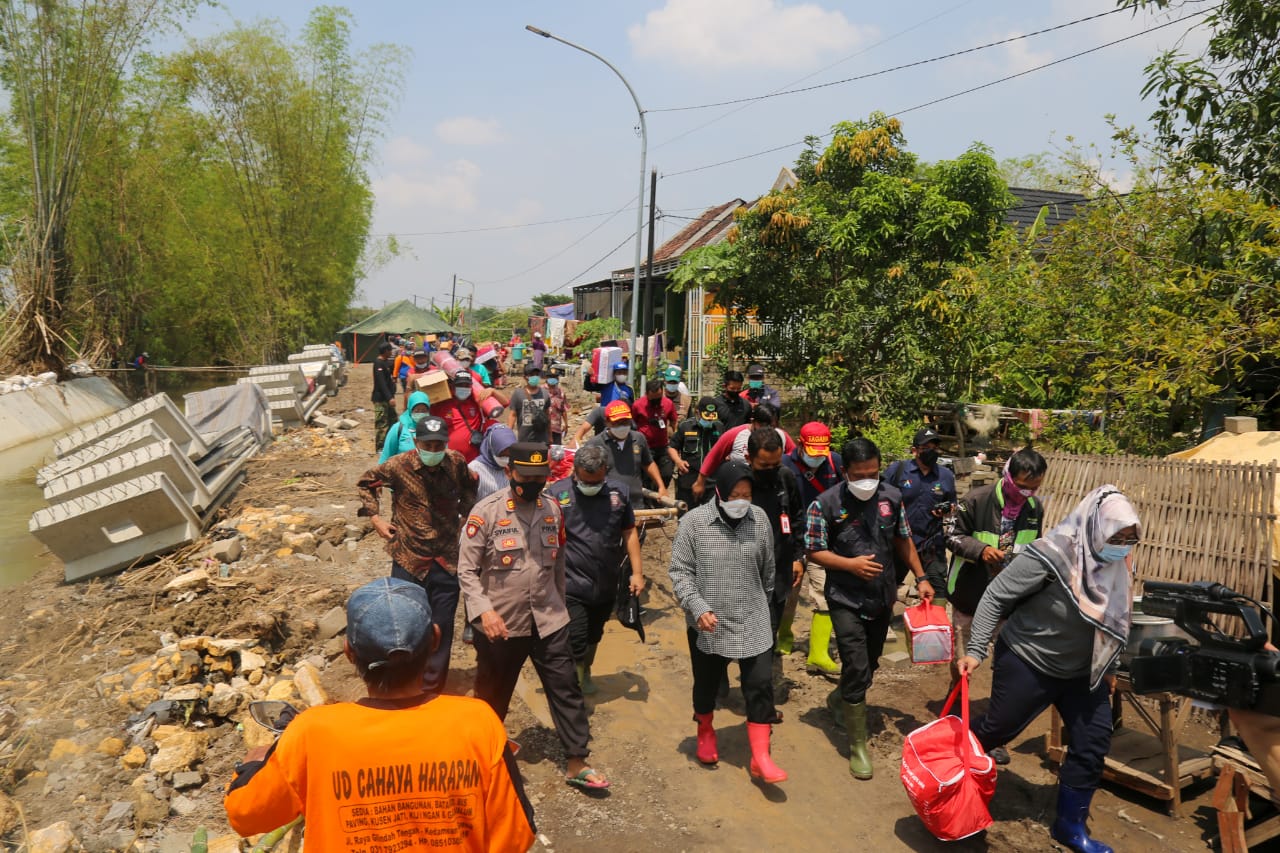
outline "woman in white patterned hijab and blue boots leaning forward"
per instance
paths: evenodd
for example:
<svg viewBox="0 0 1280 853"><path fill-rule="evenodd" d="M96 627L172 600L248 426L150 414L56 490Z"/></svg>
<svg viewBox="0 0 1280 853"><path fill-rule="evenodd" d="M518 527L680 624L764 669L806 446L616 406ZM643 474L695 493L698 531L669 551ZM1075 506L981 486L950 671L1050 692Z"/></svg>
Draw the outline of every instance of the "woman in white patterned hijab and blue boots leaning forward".
<svg viewBox="0 0 1280 853"><path fill-rule="evenodd" d="M1088 835L1089 802L1111 749L1112 675L1129 637L1129 552L1142 524L1114 485L1091 492L1043 538L1005 567L983 594L959 667L987 657L1000 620L991 704L973 721L982 748L1012 740L1053 706L1070 749L1057 785L1052 836L1079 853L1111 853Z"/></svg>

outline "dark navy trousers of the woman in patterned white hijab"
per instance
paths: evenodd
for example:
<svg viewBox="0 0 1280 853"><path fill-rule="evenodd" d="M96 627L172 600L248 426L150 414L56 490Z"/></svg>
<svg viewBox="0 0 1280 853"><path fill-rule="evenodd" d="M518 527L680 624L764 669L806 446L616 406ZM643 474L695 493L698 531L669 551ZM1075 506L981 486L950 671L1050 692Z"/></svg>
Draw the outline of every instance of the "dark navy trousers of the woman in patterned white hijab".
<svg viewBox="0 0 1280 853"><path fill-rule="evenodd" d="M996 640L991 704L970 724L982 748L1005 745L1050 706L1062 715L1068 736L1059 781L1069 788L1096 789L1111 751L1111 690L1106 680L1091 690L1088 675L1055 679L1018 657L1004 639Z"/></svg>

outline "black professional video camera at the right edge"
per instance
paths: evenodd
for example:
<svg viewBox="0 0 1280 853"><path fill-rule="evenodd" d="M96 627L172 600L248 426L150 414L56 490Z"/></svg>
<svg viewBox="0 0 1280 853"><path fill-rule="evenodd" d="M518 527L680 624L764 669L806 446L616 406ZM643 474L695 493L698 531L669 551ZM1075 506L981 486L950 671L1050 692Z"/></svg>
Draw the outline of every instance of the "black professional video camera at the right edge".
<svg viewBox="0 0 1280 853"><path fill-rule="evenodd" d="M1193 699L1280 716L1280 653L1263 648L1261 603L1222 584L1143 583L1142 612L1172 619L1181 637L1144 639L1129 662L1134 693L1179 693ZM1244 637L1219 629L1211 615L1239 619Z"/></svg>

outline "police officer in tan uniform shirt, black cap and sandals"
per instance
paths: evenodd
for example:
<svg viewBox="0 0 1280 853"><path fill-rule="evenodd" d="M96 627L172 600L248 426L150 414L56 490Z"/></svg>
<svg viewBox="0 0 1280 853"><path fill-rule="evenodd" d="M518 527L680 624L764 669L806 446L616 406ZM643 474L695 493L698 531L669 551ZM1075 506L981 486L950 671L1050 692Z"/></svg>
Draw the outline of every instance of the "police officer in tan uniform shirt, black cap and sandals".
<svg viewBox="0 0 1280 853"><path fill-rule="evenodd" d="M516 442L508 457L508 488L477 502L458 538L458 581L475 626L476 698L506 720L520 669L532 660L564 747L566 781L608 788L586 763L591 733L570 648L564 520L543 494L549 448Z"/></svg>

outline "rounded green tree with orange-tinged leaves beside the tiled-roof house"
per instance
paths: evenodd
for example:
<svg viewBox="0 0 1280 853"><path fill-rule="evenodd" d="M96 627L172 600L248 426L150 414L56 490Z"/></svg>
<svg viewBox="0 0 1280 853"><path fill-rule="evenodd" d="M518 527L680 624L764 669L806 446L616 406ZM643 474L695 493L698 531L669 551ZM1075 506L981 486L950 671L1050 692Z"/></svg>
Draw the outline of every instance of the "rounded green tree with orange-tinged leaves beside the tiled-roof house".
<svg viewBox="0 0 1280 853"><path fill-rule="evenodd" d="M826 149L810 138L796 175L740 209L728 242L690 252L677 287L767 324L735 353L771 357L828 416L915 418L968 387L968 325L932 323L922 302L997 232L1010 196L991 155L975 145L923 165L897 119L873 114L837 124Z"/></svg>

